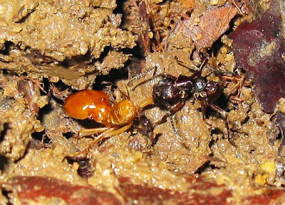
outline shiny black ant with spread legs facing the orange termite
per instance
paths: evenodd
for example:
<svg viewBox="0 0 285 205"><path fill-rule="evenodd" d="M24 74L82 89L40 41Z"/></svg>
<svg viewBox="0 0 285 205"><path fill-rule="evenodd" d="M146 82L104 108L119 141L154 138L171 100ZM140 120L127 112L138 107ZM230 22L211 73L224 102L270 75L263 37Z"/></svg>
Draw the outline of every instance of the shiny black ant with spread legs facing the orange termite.
<svg viewBox="0 0 285 205"><path fill-rule="evenodd" d="M168 111L167 114L162 117L159 123L156 123L156 125L165 122L166 119L170 117L172 129L175 135L177 136L177 139L181 143L183 143L183 140L174 126L173 117L174 114L177 113L177 111L180 111L180 109L182 109L185 102L187 101L187 99L190 99L190 97L194 97L194 99L201 101L204 120L206 119L206 109L207 107L210 107L214 111L217 111L218 113L222 114L222 116L226 118L227 124L229 123L227 118L227 111L224 111L224 109L221 109L219 106L215 105L214 101L219 99L219 96L221 96L222 84L224 84L225 81L238 81L239 77L223 74L221 76L222 83L215 82L214 80L207 81L207 79L201 76L202 69L206 64L207 60L204 60L204 62L202 62L202 65L200 65L199 67L199 71L195 72L191 76L185 76L180 74L179 77L175 77L170 74L159 74L158 76L154 77L160 77L161 79L159 80L159 82L153 83L154 86L152 89L152 100L155 103L163 106ZM156 72L157 67L155 67L154 70ZM133 79L140 78L146 72L143 72L138 76L133 77ZM152 78L153 82L154 78Z"/></svg>

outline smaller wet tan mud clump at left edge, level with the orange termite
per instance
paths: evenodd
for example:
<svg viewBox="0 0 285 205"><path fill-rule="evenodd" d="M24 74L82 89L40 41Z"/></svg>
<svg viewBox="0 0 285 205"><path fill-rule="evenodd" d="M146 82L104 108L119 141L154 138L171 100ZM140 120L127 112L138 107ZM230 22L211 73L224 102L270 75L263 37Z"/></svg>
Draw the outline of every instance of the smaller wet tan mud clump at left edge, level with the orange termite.
<svg viewBox="0 0 285 205"><path fill-rule="evenodd" d="M12 161L19 160L26 152L33 132L43 131L38 121L38 109L45 106L46 96L24 77L1 79L1 155Z"/></svg>

